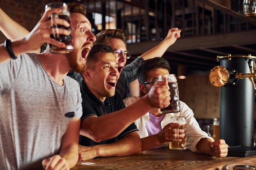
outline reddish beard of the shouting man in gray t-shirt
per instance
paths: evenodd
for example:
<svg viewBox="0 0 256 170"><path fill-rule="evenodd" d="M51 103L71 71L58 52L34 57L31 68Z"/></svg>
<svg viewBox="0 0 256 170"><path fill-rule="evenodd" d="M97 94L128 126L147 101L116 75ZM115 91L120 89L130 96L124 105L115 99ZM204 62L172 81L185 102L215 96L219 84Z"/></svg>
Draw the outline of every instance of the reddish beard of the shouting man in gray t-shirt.
<svg viewBox="0 0 256 170"><path fill-rule="evenodd" d="M71 70L76 73L83 73L85 71L85 62L78 63L77 56L79 56L79 50L73 49L70 53L66 54L68 63L70 64Z"/></svg>

